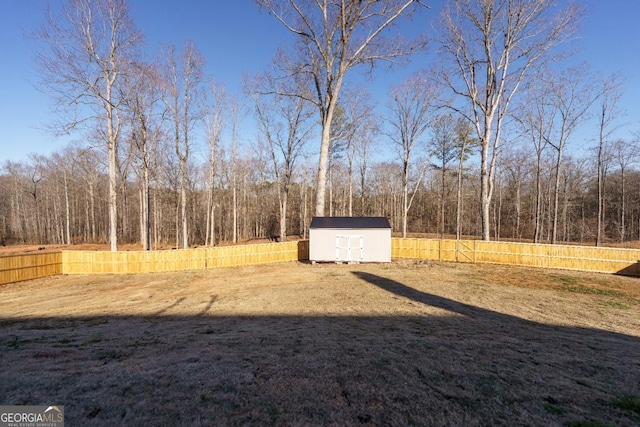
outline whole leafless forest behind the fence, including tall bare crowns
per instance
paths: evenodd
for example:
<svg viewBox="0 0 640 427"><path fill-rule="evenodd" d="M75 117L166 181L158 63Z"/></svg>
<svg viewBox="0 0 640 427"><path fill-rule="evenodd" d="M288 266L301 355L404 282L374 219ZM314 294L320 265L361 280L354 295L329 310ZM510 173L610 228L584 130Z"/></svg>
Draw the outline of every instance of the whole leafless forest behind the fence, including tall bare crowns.
<svg viewBox="0 0 640 427"><path fill-rule="evenodd" d="M403 235L640 240L638 138L617 136L624 77L563 62L580 10L456 0L429 43L398 44L396 21L434 12L412 1L258 3L299 40L280 67L247 76L242 95L205 74L194 43L145 46L124 0L52 11L38 33L40 84L59 117L51 132L78 142L0 165L0 241L286 239L305 237L318 214L387 216ZM438 61L382 103L354 83L359 67L434 46ZM335 61L313 60L328 52Z"/></svg>

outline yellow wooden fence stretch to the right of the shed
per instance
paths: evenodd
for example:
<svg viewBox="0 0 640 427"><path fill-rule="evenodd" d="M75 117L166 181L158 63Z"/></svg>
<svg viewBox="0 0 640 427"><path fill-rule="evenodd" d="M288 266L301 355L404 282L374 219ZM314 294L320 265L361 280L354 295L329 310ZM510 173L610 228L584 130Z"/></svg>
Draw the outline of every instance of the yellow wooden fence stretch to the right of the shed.
<svg viewBox="0 0 640 427"><path fill-rule="evenodd" d="M640 250L480 240L391 239L393 258L496 263L640 276Z"/></svg>

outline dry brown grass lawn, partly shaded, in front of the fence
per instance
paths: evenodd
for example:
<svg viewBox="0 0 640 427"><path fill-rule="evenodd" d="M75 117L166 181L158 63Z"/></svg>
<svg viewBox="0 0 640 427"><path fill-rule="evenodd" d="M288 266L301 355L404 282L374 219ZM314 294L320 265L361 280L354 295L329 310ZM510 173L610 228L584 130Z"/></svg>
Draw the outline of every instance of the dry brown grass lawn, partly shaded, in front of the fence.
<svg viewBox="0 0 640 427"><path fill-rule="evenodd" d="M15 283L0 403L69 425L638 425L639 289L409 261Z"/></svg>

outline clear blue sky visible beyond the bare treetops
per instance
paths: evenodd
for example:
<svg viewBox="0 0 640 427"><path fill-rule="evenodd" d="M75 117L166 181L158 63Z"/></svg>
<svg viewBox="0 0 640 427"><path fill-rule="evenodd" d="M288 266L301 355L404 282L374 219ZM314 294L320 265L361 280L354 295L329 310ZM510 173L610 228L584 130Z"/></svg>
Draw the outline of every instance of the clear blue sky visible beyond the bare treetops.
<svg viewBox="0 0 640 427"><path fill-rule="evenodd" d="M591 12L584 21L578 60L587 61L594 71L620 71L627 78L622 106L631 125L620 136L628 137L640 130L640 1L582 1ZM25 34L43 22L47 3L0 0L0 164L24 161L32 152L48 155L71 140L53 138L41 130L51 121L50 100L33 86L37 81L32 59L35 44ZM54 7L59 3L51 1ZM130 0L130 7L149 50L160 44L181 46L186 39L195 41L207 60L208 73L231 93L240 93L243 73L268 67L277 47L291 40L252 0ZM434 7L427 15L436 13ZM387 90L379 87L382 82L399 83L405 74L381 72L387 74L384 79L369 83L374 88L377 84L381 94ZM589 129L583 132L590 133ZM252 135L244 138L248 141Z"/></svg>

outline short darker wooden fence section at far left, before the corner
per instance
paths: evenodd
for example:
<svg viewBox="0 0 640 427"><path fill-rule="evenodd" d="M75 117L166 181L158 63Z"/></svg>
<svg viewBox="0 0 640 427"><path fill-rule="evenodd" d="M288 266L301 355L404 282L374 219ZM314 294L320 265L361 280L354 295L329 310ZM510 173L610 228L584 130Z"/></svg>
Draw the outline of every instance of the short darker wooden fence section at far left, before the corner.
<svg viewBox="0 0 640 427"><path fill-rule="evenodd" d="M62 274L60 252L0 258L0 285Z"/></svg>

